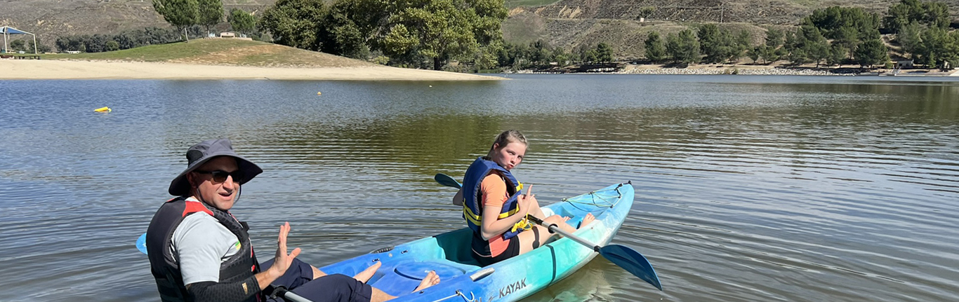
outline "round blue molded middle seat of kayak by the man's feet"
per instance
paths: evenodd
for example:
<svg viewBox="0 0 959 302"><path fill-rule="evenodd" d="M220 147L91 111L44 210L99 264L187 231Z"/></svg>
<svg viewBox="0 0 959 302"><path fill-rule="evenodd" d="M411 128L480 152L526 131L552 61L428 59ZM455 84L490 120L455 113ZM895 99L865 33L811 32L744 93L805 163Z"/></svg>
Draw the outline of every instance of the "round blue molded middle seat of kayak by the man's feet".
<svg viewBox="0 0 959 302"><path fill-rule="evenodd" d="M446 260L406 260L396 263L391 270L386 270L383 277L371 285L390 295L407 294L419 286L420 281L430 273L430 270L436 271L436 275L442 282L442 280L453 280L467 272L479 270L479 267Z"/></svg>

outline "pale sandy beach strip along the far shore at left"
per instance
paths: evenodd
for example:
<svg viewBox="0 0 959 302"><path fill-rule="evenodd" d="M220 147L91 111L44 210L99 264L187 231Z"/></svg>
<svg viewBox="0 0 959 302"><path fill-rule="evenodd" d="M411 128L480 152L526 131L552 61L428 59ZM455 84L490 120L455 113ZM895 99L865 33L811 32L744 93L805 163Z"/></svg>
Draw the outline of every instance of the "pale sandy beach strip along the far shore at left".
<svg viewBox="0 0 959 302"><path fill-rule="evenodd" d="M178 63L0 59L0 79L314 79L314 80L500 80L388 66L282 68Z"/></svg>

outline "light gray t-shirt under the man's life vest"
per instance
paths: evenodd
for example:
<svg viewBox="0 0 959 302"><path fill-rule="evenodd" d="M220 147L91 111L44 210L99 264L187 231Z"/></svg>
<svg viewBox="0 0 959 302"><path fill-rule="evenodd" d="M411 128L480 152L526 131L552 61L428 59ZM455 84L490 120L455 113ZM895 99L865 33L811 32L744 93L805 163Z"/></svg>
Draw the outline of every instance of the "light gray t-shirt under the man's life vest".
<svg viewBox="0 0 959 302"><path fill-rule="evenodd" d="M198 202L192 197L187 201ZM240 239L216 218L205 212L196 212L176 227L171 248L183 275L183 284L187 285L219 282L220 264L242 247Z"/></svg>

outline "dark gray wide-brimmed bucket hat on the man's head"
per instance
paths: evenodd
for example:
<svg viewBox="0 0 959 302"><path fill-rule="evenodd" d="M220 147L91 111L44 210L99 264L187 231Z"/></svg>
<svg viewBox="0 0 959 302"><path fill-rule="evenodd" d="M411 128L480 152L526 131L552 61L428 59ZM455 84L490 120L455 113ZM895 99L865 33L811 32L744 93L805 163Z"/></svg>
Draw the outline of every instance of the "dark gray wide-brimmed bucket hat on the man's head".
<svg viewBox="0 0 959 302"><path fill-rule="evenodd" d="M170 189L168 189L170 194L184 196L190 193L190 182L187 181L186 174L196 170L197 167L203 165L203 163L209 162L218 156L229 156L236 159L237 167L243 173L243 179L237 183L244 184L258 174L263 173L263 169L258 165L237 155L237 153L233 151L233 144L230 143L230 140L203 140L186 151L186 170L180 173L180 175L177 175L173 182L170 182Z"/></svg>

